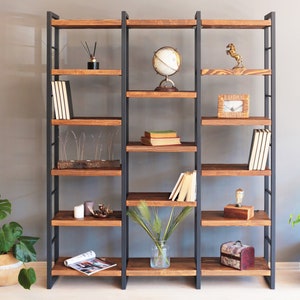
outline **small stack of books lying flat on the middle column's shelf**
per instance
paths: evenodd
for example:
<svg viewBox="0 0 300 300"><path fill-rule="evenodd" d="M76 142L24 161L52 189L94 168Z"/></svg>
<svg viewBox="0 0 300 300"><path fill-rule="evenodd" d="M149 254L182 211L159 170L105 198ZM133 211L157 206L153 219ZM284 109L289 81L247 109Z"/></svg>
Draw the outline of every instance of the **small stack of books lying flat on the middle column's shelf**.
<svg viewBox="0 0 300 300"><path fill-rule="evenodd" d="M147 146L180 145L180 137L174 130L145 131L141 143Z"/></svg>

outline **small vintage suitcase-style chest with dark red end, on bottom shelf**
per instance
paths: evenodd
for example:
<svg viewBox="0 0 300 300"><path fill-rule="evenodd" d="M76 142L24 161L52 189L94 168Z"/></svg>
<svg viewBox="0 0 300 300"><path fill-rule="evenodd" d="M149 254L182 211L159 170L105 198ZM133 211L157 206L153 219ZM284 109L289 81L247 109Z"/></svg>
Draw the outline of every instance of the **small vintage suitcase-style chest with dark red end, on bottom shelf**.
<svg viewBox="0 0 300 300"><path fill-rule="evenodd" d="M226 242L220 247L221 264L238 270L254 266L254 248L243 245L241 241Z"/></svg>

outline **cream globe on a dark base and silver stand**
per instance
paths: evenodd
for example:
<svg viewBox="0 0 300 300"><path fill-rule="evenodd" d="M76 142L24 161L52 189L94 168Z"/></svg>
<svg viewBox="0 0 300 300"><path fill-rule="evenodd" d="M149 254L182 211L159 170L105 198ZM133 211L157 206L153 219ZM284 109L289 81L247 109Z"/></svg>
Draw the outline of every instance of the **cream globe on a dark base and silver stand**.
<svg viewBox="0 0 300 300"><path fill-rule="evenodd" d="M175 74L179 70L181 64L181 56L179 52L176 49L169 46L162 47L154 52L152 64L154 70L158 74L165 76L165 79L160 82L159 87L157 87L155 90L177 90L175 88L174 82L171 79L169 79L169 76Z"/></svg>

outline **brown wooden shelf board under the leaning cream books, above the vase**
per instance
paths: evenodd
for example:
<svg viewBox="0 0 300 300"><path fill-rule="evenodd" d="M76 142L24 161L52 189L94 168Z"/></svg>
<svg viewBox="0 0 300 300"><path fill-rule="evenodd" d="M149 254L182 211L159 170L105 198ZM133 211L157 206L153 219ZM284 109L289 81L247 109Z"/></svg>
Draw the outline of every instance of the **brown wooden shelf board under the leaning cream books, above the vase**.
<svg viewBox="0 0 300 300"><path fill-rule="evenodd" d="M141 201L146 201L148 206L160 206L160 207L196 207L197 202L187 201L172 201L169 199L170 193L166 192L148 192L148 193L128 193L126 205L137 206Z"/></svg>

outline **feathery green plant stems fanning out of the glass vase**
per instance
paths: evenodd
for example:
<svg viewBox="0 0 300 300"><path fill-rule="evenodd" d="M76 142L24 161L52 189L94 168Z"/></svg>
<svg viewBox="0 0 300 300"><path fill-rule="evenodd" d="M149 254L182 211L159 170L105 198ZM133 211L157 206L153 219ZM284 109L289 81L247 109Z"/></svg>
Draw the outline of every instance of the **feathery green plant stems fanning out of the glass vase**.
<svg viewBox="0 0 300 300"><path fill-rule="evenodd" d="M137 224L139 224L149 235L155 246L162 252L161 241L167 241L177 226L188 216L192 207L184 207L178 215L175 215L175 208L172 207L169 219L163 230L163 222L158 214L158 208L149 208L145 201L137 207L128 210L128 216Z"/></svg>

